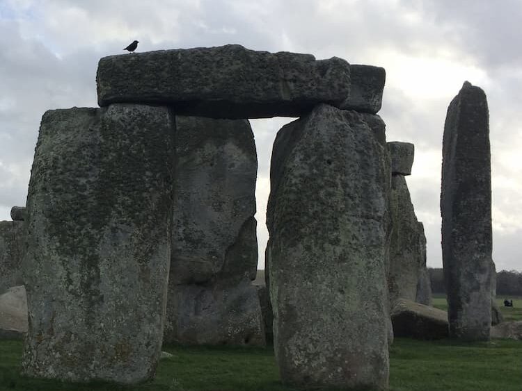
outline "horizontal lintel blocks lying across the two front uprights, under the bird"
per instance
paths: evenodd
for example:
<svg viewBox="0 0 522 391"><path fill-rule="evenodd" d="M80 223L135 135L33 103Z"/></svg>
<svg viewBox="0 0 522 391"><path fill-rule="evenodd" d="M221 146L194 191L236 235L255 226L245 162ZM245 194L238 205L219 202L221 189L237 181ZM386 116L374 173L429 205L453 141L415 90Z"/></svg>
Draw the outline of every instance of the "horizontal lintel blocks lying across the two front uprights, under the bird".
<svg viewBox="0 0 522 391"><path fill-rule="evenodd" d="M159 103L180 115L214 118L299 117L317 103L377 113L384 69L340 58L268 53L239 45L109 56L97 71L98 103Z"/></svg>

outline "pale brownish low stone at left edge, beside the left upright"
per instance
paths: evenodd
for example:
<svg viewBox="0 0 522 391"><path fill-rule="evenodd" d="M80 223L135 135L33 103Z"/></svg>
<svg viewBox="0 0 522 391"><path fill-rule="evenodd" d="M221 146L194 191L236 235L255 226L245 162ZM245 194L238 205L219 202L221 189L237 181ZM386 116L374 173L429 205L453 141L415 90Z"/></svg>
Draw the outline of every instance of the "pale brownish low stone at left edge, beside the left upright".
<svg viewBox="0 0 522 391"><path fill-rule="evenodd" d="M27 333L27 299L24 285L0 294L0 340L22 339Z"/></svg>

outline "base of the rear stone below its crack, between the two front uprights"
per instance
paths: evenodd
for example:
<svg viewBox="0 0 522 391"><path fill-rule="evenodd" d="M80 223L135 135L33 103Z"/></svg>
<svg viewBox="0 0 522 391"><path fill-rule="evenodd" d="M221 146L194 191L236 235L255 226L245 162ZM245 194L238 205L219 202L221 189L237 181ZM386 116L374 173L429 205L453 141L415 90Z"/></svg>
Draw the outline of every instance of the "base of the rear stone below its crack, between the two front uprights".
<svg viewBox="0 0 522 391"><path fill-rule="evenodd" d="M168 292L168 342L264 346L258 289L250 281L235 285L176 285ZM167 342L167 341L165 341Z"/></svg>

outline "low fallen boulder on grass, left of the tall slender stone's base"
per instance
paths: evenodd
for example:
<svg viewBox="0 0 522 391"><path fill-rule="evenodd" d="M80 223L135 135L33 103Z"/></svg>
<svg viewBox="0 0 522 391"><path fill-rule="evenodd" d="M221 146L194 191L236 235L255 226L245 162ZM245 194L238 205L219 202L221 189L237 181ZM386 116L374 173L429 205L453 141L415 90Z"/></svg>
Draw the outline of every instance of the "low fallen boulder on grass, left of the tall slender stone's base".
<svg viewBox="0 0 522 391"><path fill-rule="evenodd" d="M411 300L395 302L391 319L395 337L438 340L448 337L448 313Z"/></svg>

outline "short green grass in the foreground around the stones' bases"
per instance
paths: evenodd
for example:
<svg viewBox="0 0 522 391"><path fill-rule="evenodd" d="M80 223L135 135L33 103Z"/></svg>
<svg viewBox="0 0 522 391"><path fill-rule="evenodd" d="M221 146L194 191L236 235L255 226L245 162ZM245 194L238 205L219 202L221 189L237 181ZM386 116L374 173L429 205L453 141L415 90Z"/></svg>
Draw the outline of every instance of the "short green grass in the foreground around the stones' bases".
<svg viewBox="0 0 522 391"><path fill-rule="evenodd" d="M123 387L70 384L19 376L22 342L0 341L0 390L290 391L279 381L274 351L230 347L164 347L150 383ZM391 391L520 391L522 341L459 344L397 339L390 350Z"/></svg>

